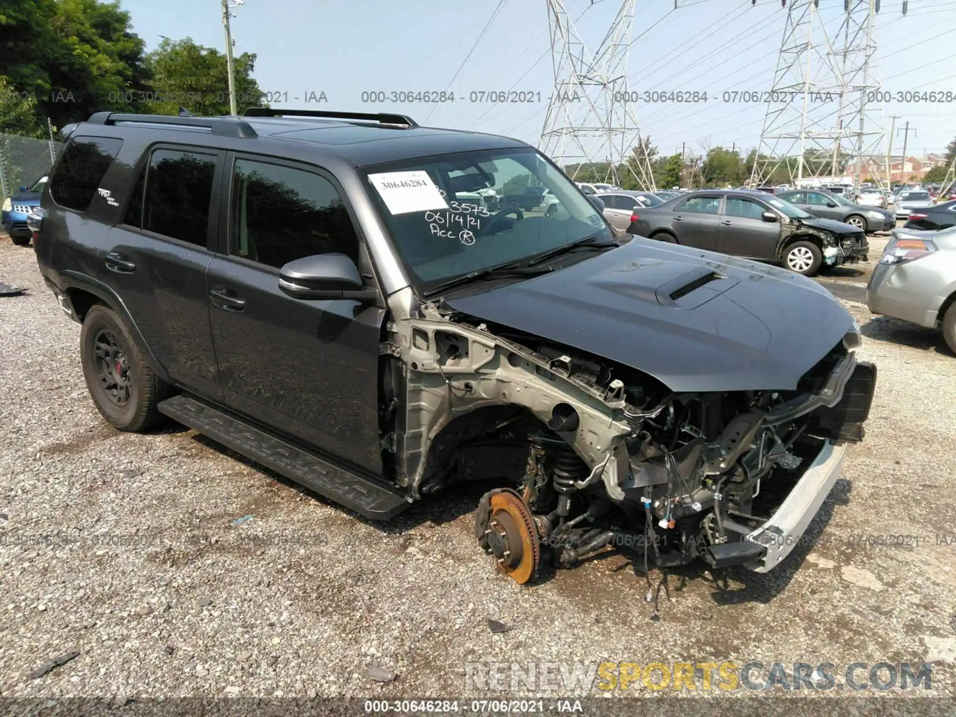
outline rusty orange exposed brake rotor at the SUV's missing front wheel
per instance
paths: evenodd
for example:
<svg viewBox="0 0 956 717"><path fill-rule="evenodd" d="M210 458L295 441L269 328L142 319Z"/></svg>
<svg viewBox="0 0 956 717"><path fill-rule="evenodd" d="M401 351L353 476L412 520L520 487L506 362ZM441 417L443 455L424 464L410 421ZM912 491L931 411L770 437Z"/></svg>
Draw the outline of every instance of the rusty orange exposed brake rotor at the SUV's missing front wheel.
<svg viewBox="0 0 956 717"><path fill-rule="evenodd" d="M475 537L519 585L537 576L541 542L532 512L515 491L495 489L482 496L475 511Z"/></svg>

